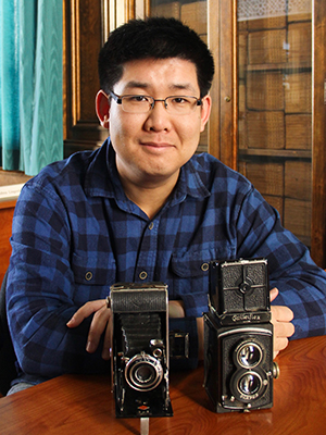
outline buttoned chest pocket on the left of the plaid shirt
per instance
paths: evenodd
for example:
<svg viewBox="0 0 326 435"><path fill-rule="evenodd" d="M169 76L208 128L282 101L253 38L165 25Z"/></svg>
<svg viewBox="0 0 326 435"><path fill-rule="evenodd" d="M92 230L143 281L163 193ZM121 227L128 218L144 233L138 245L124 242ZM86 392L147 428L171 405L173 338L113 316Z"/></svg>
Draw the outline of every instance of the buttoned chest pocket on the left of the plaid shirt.
<svg viewBox="0 0 326 435"><path fill-rule="evenodd" d="M115 282L116 263L112 252L74 253L72 269L77 285L110 286Z"/></svg>

